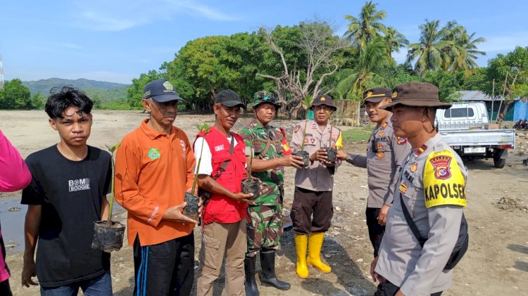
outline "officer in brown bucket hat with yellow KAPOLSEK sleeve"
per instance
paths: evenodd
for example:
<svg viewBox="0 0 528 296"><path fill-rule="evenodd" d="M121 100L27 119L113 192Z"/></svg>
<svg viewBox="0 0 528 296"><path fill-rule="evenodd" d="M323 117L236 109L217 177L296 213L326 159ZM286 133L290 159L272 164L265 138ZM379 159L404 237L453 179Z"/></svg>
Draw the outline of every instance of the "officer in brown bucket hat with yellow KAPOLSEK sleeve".
<svg viewBox="0 0 528 296"><path fill-rule="evenodd" d="M408 82L396 86L392 103L382 107L392 110L394 133L412 150L398 172L379 256L371 264L379 281L375 295L440 295L451 286L446 263L460 233L467 171L434 127L436 110L450 107L438 92L432 84Z"/></svg>

